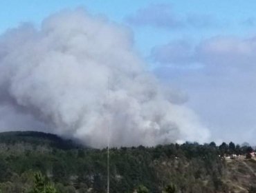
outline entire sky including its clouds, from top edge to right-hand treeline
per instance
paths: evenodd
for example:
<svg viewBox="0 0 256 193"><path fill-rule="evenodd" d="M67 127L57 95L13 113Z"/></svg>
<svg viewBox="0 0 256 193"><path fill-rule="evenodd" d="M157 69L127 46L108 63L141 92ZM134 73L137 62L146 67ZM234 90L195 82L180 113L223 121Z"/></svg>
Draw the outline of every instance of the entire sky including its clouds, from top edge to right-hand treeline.
<svg viewBox="0 0 256 193"><path fill-rule="evenodd" d="M253 143L255 1L1 1L0 33L78 6L129 28L134 48L163 83L188 94L213 140Z"/></svg>

